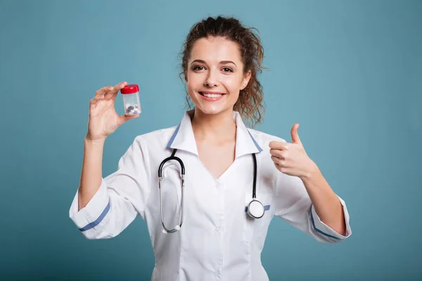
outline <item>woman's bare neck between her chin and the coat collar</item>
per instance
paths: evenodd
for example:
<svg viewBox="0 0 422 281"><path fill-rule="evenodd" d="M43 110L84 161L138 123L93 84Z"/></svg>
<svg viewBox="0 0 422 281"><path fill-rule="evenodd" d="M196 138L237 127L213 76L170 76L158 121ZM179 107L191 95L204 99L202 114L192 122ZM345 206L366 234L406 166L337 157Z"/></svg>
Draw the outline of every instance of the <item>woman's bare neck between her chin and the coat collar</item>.
<svg viewBox="0 0 422 281"><path fill-rule="evenodd" d="M233 111L227 110L217 115L207 115L195 109L192 118L193 135L196 141L235 141L236 122Z"/></svg>

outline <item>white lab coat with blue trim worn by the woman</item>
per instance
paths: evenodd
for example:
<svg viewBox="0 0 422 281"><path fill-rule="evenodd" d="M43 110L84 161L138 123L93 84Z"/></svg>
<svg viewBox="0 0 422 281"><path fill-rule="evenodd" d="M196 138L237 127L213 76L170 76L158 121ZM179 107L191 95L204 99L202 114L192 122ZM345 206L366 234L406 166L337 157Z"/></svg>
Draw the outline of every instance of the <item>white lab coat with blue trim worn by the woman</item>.
<svg viewBox="0 0 422 281"><path fill-rule="evenodd" d="M88 239L115 237L139 215L148 226L155 254L152 280L268 280L261 264L269 223L279 216L319 242L335 243L351 235L345 213L346 236L320 221L300 178L276 169L269 154L270 141L284 141L247 129L238 112L236 158L215 178L198 159L190 112L179 126L137 136L119 161L118 169L102 179L86 207L77 210L77 194L70 218ZM184 162L186 188L184 223L177 233L162 233L158 167L177 148ZM245 212L252 198L253 159L257 153L257 200L266 207L262 218ZM162 187L163 216L167 228L180 220L179 164L165 165Z"/></svg>

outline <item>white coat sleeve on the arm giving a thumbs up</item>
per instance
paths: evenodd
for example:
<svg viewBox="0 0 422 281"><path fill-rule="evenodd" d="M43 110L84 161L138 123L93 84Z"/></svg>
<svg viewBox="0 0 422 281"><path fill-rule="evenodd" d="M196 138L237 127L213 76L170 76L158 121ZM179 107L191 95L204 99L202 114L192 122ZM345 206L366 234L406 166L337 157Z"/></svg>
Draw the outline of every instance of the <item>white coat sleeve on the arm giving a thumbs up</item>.
<svg viewBox="0 0 422 281"><path fill-rule="evenodd" d="M314 237L317 241L324 243L342 242L352 234L349 213L345 202L340 197L338 197L338 200L343 206L345 215L345 236L335 232L320 220L300 178L279 173L274 195L274 214L291 226Z"/></svg>

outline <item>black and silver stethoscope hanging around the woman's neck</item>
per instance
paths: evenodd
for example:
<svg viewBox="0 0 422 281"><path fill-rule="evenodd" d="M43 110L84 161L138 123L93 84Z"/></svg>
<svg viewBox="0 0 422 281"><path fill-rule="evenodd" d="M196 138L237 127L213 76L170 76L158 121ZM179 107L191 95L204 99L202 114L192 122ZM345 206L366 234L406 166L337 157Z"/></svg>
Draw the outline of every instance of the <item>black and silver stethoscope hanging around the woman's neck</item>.
<svg viewBox="0 0 422 281"><path fill-rule="evenodd" d="M180 230L181 225L183 223L183 214L184 214L184 176L185 176L185 169L183 161L179 157L174 156L177 152L177 149L174 148L172 152L172 156L167 157L166 159L162 160L160 167L158 168L158 189L160 192L160 216L161 216L161 224L162 224L162 233L175 233ZM248 204L247 213L251 218L262 218L265 213L264 205L257 200L257 157L255 153L252 153L253 157L253 186L252 186L252 200ZM165 165L167 161L176 160L179 162L181 167L181 218L180 223L174 228L167 228L164 224L164 219L162 218L162 199L161 199L161 181L162 181L162 167Z"/></svg>

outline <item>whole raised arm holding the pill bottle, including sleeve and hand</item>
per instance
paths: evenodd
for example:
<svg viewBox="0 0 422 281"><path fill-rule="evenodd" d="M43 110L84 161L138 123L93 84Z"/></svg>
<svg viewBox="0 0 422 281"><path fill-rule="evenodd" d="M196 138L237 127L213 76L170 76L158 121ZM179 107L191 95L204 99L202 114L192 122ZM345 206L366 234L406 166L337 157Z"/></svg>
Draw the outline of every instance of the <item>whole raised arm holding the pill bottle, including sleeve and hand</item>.
<svg viewBox="0 0 422 281"><path fill-rule="evenodd" d="M118 235L136 214L143 214L151 187L148 150L143 140L134 143L120 158L119 168L102 178L103 147L107 136L139 115L117 115L115 98L126 82L96 91L89 102L89 121L84 140L84 159L79 188L69 216L89 239Z"/></svg>

